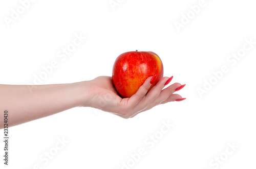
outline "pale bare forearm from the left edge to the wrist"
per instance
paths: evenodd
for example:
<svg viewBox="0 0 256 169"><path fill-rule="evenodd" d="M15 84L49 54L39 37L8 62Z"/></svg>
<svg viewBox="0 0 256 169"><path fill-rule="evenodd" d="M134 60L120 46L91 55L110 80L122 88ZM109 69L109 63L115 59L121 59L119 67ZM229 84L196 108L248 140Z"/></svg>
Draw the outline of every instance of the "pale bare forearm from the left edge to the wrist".
<svg viewBox="0 0 256 169"><path fill-rule="evenodd" d="M87 84L0 85L0 110L3 113L8 110L8 126L26 123L83 105L87 99ZM0 116L1 129L3 117Z"/></svg>

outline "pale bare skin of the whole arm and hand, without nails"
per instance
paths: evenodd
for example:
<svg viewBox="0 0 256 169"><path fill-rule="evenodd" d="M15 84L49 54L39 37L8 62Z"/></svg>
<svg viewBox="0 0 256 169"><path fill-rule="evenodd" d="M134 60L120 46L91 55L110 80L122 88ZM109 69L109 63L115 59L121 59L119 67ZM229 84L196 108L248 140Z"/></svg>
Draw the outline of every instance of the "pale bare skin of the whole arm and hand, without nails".
<svg viewBox="0 0 256 169"><path fill-rule="evenodd" d="M159 104L174 102L181 86L174 83L164 88L168 77L151 87L148 77L131 98L121 98L111 77L101 76L90 81L50 85L0 85L0 129L4 128L4 110L8 110L8 127L27 123L74 107L93 107L123 118L131 118Z"/></svg>

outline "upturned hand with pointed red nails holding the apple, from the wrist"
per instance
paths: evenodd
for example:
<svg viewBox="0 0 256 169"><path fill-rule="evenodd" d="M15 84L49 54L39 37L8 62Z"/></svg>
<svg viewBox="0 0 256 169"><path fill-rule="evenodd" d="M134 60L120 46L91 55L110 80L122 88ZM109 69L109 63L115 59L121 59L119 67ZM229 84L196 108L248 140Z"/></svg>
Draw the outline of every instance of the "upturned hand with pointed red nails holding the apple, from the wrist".
<svg viewBox="0 0 256 169"><path fill-rule="evenodd" d="M103 111L111 112L123 118L131 118L143 111L149 110L159 104L182 101L175 91L182 89L185 85L174 83L163 89L173 77L163 77L151 88L152 77L148 77L138 91L131 98L121 98L116 91L112 78L107 76L97 77L89 81L88 103L84 106L94 107Z"/></svg>

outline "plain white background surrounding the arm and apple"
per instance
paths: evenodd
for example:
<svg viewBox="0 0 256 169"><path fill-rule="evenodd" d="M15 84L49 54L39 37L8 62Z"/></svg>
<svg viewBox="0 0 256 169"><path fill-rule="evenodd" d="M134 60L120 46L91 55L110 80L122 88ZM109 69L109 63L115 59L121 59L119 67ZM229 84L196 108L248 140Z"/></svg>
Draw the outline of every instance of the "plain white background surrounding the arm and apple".
<svg viewBox="0 0 256 169"><path fill-rule="evenodd" d="M255 168L256 45L235 65L227 61L243 49L245 39L256 41L254 2L205 0L195 16L189 6L199 1L118 2L113 10L109 0L38 0L8 27L5 18L11 18L12 9L17 11L21 4L1 1L0 83L33 83L34 76L44 71L42 66L53 60L59 65L41 84L111 76L121 53L152 51L163 62L164 76L174 76L172 83L186 84L177 93L187 99L132 119L73 108L11 127L10 165L3 164L1 141L1 168L32 169L38 164L41 168L106 169L125 168L122 165L127 162L129 168ZM181 23L189 11L191 19L178 32L175 22ZM58 51L72 43L75 34L87 39L61 61ZM220 71L223 65L229 71L215 81L212 71ZM198 88L204 89L210 79L215 84L200 97ZM161 134L164 122L174 127L158 135L161 138L149 148L144 141ZM58 138L68 143L55 152ZM228 144L236 145L229 155ZM134 161L130 154L140 149L145 153ZM56 155L46 164L39 158L49 151ZM222 160L218 166L212 161L216 158Z"/></svg>

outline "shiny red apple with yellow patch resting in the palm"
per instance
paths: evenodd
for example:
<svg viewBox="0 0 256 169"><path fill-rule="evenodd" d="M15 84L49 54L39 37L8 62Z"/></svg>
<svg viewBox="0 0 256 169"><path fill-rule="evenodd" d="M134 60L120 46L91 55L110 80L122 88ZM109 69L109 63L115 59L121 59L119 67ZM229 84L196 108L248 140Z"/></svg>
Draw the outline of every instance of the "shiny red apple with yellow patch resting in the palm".
<svg viewBox="0 0 256 169"><path fill-rule="evenodd" d="M126 52L116 58L112 81L123 98L130 98L148 77L156 74L157 79L150 89L163 77L163 64L157 54L154 52Z"/></svg>

